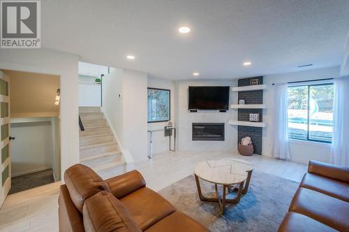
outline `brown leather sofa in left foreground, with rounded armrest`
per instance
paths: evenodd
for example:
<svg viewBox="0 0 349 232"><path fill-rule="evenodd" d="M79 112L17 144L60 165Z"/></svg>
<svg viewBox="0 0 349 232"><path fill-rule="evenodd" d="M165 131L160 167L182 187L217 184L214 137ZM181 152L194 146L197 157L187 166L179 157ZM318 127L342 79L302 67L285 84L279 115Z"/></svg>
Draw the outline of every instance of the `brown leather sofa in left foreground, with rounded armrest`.
<svg viewBox="0 0 349 232"><path fill-rule="evenodd" d="M145 187L138 171L103 180L76 164L64 173L59 231L209 231Z"/></svg>

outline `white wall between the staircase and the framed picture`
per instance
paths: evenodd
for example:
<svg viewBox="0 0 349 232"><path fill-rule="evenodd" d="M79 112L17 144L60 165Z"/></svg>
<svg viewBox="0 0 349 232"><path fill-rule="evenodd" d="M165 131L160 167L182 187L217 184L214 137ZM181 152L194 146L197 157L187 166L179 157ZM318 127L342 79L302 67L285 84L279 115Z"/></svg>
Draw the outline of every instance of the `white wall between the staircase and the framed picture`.
<svg viewBox="0 0 349 232"><path fill-rule="evenodd" d="M147 73L115 69L103 78L103 111L121 147L147 159Z"/></svg>

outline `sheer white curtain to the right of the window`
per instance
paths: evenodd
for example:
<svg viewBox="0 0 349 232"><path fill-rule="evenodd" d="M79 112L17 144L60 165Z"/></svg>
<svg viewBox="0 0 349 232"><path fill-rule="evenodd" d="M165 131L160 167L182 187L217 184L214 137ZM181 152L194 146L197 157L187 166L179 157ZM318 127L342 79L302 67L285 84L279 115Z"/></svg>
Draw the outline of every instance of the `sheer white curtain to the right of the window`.
<svg viewBox="0 0 349 232"><path fill-rule="evenodd" d="M349 77L334 78L332 163L349 166Z"/></svg>

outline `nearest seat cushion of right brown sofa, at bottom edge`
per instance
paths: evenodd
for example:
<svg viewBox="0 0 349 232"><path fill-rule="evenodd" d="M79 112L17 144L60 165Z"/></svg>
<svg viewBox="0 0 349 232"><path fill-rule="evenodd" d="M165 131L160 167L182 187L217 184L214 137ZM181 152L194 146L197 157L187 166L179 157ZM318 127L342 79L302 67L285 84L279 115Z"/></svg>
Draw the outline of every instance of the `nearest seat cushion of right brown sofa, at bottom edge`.
<svg viewBox="0 0 349 232"><path fill-rule="evenodd" d="M279 232L334 232L332 229L321 222L318 222L310 217L301 215L297 212L288 212L283 218L283 222L279 227Z"/></svg>

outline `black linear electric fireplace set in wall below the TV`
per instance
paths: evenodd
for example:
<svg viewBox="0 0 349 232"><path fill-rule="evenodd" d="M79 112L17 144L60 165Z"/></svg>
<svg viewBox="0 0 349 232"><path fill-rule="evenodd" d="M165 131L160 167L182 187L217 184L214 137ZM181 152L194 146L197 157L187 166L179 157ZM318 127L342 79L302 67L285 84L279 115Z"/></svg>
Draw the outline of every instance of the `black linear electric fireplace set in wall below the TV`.
<svg viewBox="0 0 349 232"><path fill-rule="evenodd" d="M193 140L224 140L224 123L193 123Z"/></svg>

